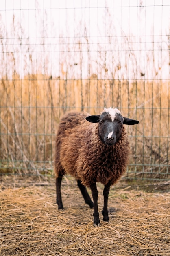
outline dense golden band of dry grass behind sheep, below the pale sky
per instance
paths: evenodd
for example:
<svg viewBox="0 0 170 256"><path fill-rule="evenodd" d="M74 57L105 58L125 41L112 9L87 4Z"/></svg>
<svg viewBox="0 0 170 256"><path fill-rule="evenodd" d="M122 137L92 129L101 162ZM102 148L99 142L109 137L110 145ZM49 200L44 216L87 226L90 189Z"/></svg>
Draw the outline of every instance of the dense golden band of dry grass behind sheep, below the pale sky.
<svg viewBox="0 0 170 256"><path fill-rule="evenodd" d="M128 127L129 172L136 168L135 175L152 172L160 177L163 172L161 177L168 176L170 94L166 83L97 77L67 81L37 74L2 79L0 87L0 159L2 167L7 167L5 172L13 167L11 170L20 173L49 174L61 115L73 109L97 114L111 106L140 121L138 126Z"/></svg>

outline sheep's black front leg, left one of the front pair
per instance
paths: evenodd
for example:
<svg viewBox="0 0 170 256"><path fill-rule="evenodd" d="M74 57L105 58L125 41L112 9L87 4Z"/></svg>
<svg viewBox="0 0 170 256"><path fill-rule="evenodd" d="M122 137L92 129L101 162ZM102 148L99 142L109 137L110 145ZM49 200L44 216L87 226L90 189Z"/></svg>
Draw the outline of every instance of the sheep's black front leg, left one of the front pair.
<svg viewBox="0 0 170 256"><path fill-rule="evenodd" d="M93 225L94 225L94 227L96 227L96 226L100 226L99 213L98 213L98 190L96 187L96 183L92 184L90 186L90 189L92 191L92 197L93 197L93 202L94 202Z"/></svg>

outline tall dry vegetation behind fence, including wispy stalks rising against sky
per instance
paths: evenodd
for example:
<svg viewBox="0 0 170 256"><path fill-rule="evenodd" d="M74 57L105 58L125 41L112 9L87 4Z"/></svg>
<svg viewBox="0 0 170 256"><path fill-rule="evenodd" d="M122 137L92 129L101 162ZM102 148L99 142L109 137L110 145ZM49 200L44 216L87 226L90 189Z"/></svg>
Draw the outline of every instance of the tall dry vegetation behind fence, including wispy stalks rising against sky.
<svg viewBox="0 0 170 256"><path fill-rule="evenodd" d="M48 49L48 22L40 22L44 24L43 36L33 43L15 16L11 34L4 32L0 19L0 172L51 175L55 133L63 113L78 110L98 114L103 107L117 107L124 116L140 121L137 126L126 127L131 144L128 177L148 174L168 179L170 85L169 80L161 78L165 63L163 58L162 66L156 63L159 58L155 58L154 42L151 50L143 49L135 55L135 38L125 36L123 31L122 37L117 37L106 9L107 49L103 49L102 37L97 39L97 51L93 48L86 25L80 26L81 31L75 29L74 42L71 37L61 36L56 77L50 73L55 44ZM168 53L167 42L157 45L161 54L163 47ZM54 49L54 53L57 51ZM147 60L147 74L139 66L142 54ZM24 77L19 76L19 71Z"/></svg>

